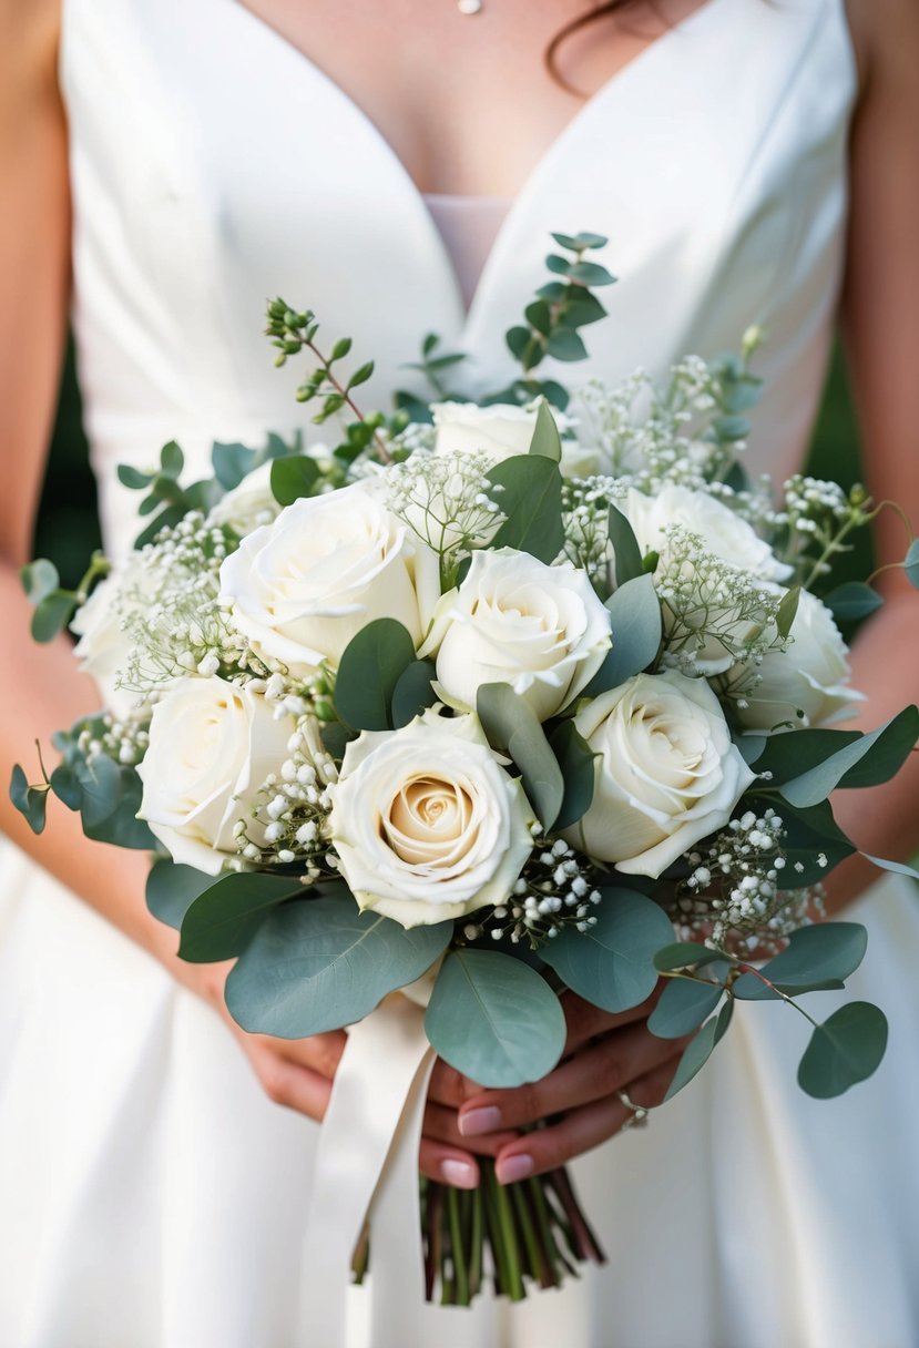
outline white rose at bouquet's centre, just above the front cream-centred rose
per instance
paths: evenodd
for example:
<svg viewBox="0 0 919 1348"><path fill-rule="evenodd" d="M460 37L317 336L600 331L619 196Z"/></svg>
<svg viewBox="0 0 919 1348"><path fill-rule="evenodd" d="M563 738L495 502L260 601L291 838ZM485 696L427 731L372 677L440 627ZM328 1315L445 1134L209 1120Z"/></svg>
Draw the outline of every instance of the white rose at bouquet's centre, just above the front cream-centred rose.
<svg viewBox="0 0 919 1348"><path fill-rule="evenodd" d="M437 651L450 705L474 709L482 683L509 683L544 721L586 687L610 644L609 612L585 572L499 549L473 553L420 654Z"/></svg>

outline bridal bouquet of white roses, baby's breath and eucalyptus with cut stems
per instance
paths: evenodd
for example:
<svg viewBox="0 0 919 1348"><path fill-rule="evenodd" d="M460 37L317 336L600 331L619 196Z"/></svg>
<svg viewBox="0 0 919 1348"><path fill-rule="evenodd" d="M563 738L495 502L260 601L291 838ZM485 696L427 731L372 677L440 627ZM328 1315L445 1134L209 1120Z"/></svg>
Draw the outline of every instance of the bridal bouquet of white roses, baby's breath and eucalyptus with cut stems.
<svg viewBox="0 0 919 1348"><path fill-rule="evenodd" d="M35 636L69 623L109 696L12 794L36 832L50 791L90 837L156 851L151 910L183 958L236 957L247 1030L350 1026L410 988L446 1062L513 1086L562 1057L565 989L619 1012L663 981L649 1029L695 1031L670 1095L737 1003L783 1000L813 1024L800 1085L834 1096L875 1070L887 1024L798 1002L865 950L861 926L813 921L856 851L829 797L888 779L919 733L915 708L830 728L858 697L835 623L880 599L826 577L876 510L748 480L756 333L660 388L538 380L546 355L585 355L612 280L586 256L605 240L555 239L508 333L521 376L478 403L447 396L462 357L430 337L435 400L361 415L372 367L340 375L350 342L323 355L311 313L271 303L279 360L315 361L300 399L344 429L217 445L191 485L168 445L121 469L154 516L129 558L94 558L78 593L26 569ZM468 1302L485 1244L512 1297L600 1258L562 1171L482 1174L423 1188L429 1297L439 1279Z"/></svg>

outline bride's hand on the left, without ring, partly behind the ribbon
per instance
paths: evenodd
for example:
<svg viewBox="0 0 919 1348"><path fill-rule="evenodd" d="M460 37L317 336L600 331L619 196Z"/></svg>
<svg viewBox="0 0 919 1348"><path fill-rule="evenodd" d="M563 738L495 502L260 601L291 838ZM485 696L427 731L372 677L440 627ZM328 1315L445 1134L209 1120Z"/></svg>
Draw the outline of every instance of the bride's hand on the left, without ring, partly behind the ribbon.
<svg viewBox="0 0 919 1348"><path fill-rule="evenodd" d="M224 984L232 967L232 960L225 964L189 964L182 972L182 981L221 1015L241 1045L268 1099L321 1122L329 1107L331 1082L348 1035L344 1030L314 1034L306 1039L248 1034L233 1020L224 1000ZM461 1138L457 1104L470 1089L473 1088L458 1073L438 1064L429 1091L419 1153L422 1174L458 1189L474 1189L478 1185L474 1153L493 1157L517 1139L517 1134L509 1128L489 1130L486 1136L474 1140Z"/></svg>

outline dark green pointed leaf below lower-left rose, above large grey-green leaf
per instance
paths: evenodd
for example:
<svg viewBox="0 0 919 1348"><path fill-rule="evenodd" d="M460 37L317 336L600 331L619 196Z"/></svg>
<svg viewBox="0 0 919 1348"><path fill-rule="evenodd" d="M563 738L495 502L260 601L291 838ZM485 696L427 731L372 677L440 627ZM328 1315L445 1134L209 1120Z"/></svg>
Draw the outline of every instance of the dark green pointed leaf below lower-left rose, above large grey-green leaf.
<svg viewBox="0 0 919 1348"><path fill-rule="evenodd" d="M241 871L212 882L185 914L179 958L210 964L241 954L272 909L302 895L291 876Z"/></svg>

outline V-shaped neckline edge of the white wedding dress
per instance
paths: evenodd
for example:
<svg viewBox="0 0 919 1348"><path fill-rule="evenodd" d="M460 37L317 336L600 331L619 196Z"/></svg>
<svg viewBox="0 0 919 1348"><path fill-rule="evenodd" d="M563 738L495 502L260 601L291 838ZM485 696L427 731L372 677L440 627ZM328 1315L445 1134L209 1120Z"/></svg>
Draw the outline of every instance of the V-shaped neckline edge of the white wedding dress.
<svg viewBox="0 0 919 1348"><path fill-rule="evenodd" d="M218 4L226 3L226 0L218 0ZM490 288L492 274L495 271L496 257L504 251L504 241L511 235L516 226L516 221L521 213L526 212L530 200L539 191L543 181L551 173L557 160L565 154L569 144L574 137L582 131L585 124L590 121L597 112L609 101L609 98L619 93L620 85L628 86L628 84L635 78L637 73L644 70L651 65L655 55L664 54L670 50L672 38L683 36L691 32L697 23L705 23L710 15L718 9L718 7L726 3L726 0L702 0L691 13L689 13L679 23L671 24L660 36L655 38L645 47L637 51L631 61L614 70L608 80L605 80L600 88L593 93L581 108L574 113L574 116L562 127L558 135L548 143L543 154L536 159L530 173L526 175L520 190L511 200L511 206L501 221L501 225L495 236L495 241L488 252L485 263L478 276L476 290L473 293L469 307L464 302L462 288L459 286L459 278L457 270L447 249L447 245L438 229L434 217L427 209L427 202L424 201L424 193L420 190L411 173L408 171L402 156L395 151L389 140L380 131L377 124L373 121L369 113L361 108L361 105L344 89L330 74L327 74L322 66L310 57L302 47L298 47L290 38L284 36L279 28L275 28L265 18L252 9L245 0L229 0L233 9L241 13L243 22L248 23L253 32L263 36L264 40L272 43L279 51L282 51L286 59L296 63L311 74L323 88L337 98L354 117L358 125L362 127L368 139L376 144L388 162L389 168L393 175L400 179L406 186L407 200L411 200L414 208L420 218L424 220L426 228L429 231L430 241L433 247L441 256L442 267L445 274L450 278L453 283L453 293L455 301L455 329L459 340L465 338L466 332L473 325L478 315L478 311L485 302L488 290ZM585 228L589 228L589 221Z"/></svg>

